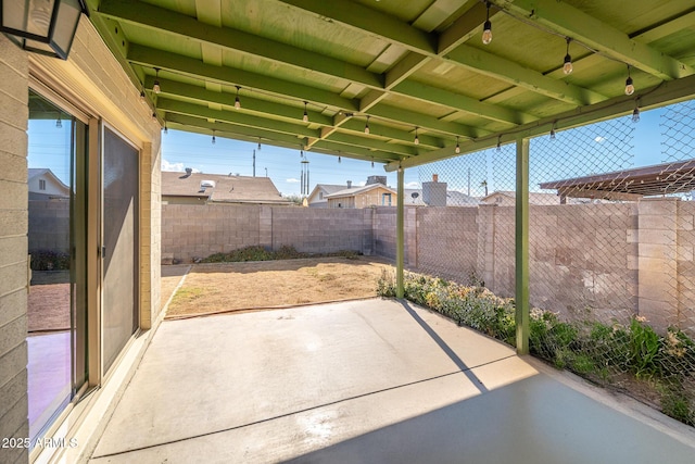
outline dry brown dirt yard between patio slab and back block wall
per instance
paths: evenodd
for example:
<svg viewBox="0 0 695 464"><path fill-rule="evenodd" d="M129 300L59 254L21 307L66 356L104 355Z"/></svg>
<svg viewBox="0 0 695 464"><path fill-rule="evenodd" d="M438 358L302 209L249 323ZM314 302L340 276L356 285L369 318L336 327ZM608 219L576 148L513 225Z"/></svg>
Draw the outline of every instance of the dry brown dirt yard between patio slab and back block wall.
<svg viewBox="0 0 695 464"><path fill-rule="evenodd" d="M181 272L168 267L175 266L162 269L163 299L172 285L164 276L174 281ZM392 272L393 266L374 256L195 264L166 317L371 298L382 269Z"/></svg>

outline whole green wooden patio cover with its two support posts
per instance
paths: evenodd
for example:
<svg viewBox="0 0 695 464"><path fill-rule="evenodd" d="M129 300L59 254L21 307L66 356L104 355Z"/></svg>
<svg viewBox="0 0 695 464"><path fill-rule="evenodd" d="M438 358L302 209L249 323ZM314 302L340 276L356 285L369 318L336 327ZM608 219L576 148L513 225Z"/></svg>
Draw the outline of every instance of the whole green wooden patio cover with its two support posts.
<svg viewBox="0 0 695 464"><path fill-rule="evenodd" d="M383 163L399 198L404 168L516 143L521 331L529 137L695 89L690 0L87 3L163 127Z"/></svg>

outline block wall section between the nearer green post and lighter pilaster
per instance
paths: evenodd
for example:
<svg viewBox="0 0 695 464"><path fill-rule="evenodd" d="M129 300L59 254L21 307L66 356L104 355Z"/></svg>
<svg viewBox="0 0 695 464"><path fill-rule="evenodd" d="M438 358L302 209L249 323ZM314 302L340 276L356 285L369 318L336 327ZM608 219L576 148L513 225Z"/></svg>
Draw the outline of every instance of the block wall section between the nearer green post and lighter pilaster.
<svg viewBox="0 0 695 464"><path fill-rule="evenodd" d="M628 322L637 310L637 275L628 266L636 246L627 240L634 208L531 206L531 303L571 317Z"/></svg>

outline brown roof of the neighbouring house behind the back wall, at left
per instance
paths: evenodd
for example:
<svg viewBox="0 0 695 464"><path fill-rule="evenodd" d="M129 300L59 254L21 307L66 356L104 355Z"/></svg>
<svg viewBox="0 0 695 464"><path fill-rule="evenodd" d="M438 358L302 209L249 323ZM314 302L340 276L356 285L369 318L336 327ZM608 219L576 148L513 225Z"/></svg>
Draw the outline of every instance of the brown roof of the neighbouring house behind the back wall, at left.
<svg viewBox="0 0 695 464"><path fill-rule="evenodd" d="M211 181L212 187L203 187ZM162 173L162 197L206 198L216 203L290 204L268 177Z"/></svg>

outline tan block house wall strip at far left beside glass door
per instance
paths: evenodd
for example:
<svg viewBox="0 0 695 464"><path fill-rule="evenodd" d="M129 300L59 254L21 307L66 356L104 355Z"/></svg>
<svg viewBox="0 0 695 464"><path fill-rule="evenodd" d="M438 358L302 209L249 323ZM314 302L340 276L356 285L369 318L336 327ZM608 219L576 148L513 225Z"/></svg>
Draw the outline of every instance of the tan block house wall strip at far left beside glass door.
<svg viewBox="0 0 695 464"><path fill-rule="evenodd" d="M27 400L28 61L0 35L0 437L29 436ZM28 462L0 448L0 462Z"/></svg>

